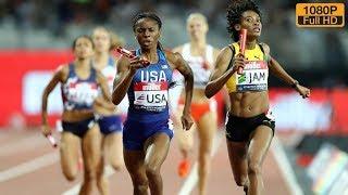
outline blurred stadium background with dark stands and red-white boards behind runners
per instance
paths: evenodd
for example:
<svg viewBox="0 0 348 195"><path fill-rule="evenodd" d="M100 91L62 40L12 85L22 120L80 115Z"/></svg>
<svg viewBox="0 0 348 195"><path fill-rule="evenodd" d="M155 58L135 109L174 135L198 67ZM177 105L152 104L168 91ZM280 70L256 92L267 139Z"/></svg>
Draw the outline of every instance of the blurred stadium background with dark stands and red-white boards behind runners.
<svg viewBox="0 0 348 195"><path fill-rule="evenodd" d="M286 172L294 173L295 183L300 188L291 190L291 181L284 179L287 192L348 194L348 25L337 29L298 28L295 24L297 1L257 2L263 13L261 41L269 43L272 55L291 76L312 89L311 98L302 100L296 92L285 88L277 78L270 78L270 98L277 126L275 142L282 146L290 169L282 167L285 162L279 161L284 158L276 157L277 148L271 150L272 158L285 178L290 177ZM227 2L224 0L0 1L0 156L3 159L0 164L0 192L2 188L11 194L22 194L24 188L21 191L21 187L11 186L11 182L21 178L33 188L42 187L39 179L28 180L25 174L8 180L3 177L12 167L41 155L58 153L49 148L38 131L40 98L52 70L72 58L70 47L75 37L90 34L96 26L105 26L120 35L127 48L135 48L132 15L140 10L151 10L159 13L164 24L162 44L171 49L188 40L186 17L198 11L207 15L209 21L208 42L222 48L231 42L226 32L226 6ZM347 8L346 2L346 10ZM62 110L58 88L50 96L49 110L52 116L50 122L54 127ZM23 140L32 136L35 138L33 142L36 142L36 146L23 143ZM32 153L23 151L25 144L30 145L32 152L41 152L24 157L25 153ZM172 151L175 147L174 144ZM216 153L216 162L224 160L227 166L222 171L231 171L224 147L223 143ZM177 159L176 152L173 153L173 159ZM266 162L263 168L265 178L270 178L268 171L271 164ZM49 177L57 177L64 183L59 164L45 168L54 170L57 174L51 172ZM316 171L318 169L321 171ZM232 174L228 171L225 171L228 173L226 182L232 185ZM126 172L123 176L127 177ZM214 185L219 190L219 183ZM67 190L73 184L65 182L63 186ZM266 188L273 186L273 183L266 184Z"/></svg>

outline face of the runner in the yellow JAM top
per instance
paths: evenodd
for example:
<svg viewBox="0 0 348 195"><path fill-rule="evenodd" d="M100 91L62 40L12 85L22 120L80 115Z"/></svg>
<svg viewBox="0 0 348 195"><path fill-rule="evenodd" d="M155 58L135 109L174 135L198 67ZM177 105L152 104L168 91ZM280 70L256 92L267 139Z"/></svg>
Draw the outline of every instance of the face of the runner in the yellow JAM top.
<svg viewBox="0 0 348 195"><path fill-rule="evenodd" d="M240 27L248 30L248 36L260 37L262 23L260 15L253 11L246 11L240 17Z"/></svg>

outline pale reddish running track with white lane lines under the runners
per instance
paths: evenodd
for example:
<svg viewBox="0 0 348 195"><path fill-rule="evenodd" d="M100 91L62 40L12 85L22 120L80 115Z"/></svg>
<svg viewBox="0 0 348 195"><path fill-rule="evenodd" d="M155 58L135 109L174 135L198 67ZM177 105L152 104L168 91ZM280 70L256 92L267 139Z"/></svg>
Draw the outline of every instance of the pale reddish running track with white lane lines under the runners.
<svg viewBox="0 0 348 195"><path fill-rule="evenodd" d="M55 134L58 136L58 134ZM59 151L53 150L38 130L0 130L0 192L1 194L59 195L75 194L74 186L82 180L82 172L75 182L67 182L61 173ZM177 195L184 180L176 174L179 152L172 142L169 157L162 167L164 194ZM130 195L130 179L124 169L112 173L111 194ZM263 166L263 178L268 195L289 195L290 191L272 153ZM76 188L76 187L75 187ZM97 190L95 190L95 194ZM197 194L194 191L191 194ZM212 161L208 195L243 194L233 181L232 171L223 139Z"/></svg>

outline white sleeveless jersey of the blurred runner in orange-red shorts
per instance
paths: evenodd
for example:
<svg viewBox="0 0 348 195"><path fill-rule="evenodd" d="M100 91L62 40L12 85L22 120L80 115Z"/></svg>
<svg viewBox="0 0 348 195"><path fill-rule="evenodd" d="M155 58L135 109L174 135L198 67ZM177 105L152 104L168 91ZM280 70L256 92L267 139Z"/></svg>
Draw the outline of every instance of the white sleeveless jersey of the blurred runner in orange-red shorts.
<svg viewBox="0 0 348 195"><path fill-rule="evenodd" d="M214 63L213 47L207 44L204 56L192 56L190 53L190 43L183 47L183 57L188 63L194 73L194 88L204 89L211 74L210 67L207 65Z"/></svg>

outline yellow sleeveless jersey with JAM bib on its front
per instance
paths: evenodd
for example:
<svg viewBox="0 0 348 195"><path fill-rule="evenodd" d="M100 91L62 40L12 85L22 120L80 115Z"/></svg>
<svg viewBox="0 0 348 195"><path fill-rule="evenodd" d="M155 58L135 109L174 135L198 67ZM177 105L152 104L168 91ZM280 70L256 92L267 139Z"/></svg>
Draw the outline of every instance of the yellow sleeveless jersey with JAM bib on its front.
<svg viewBox="0 0 348 195"><path fill-rule="evenodd" d="M234 49L234 57L239 53L237 42L231 46ZM252 50L246 50L247 64L241 75L235 73L226 82L228 92L265 91L269 82L269 58L260 44ZM232 63L232 61L231 61ZM231 64L228 68L231 67Z"/></svg>

